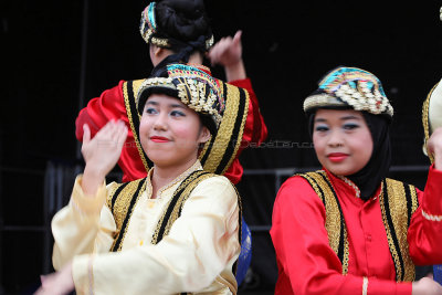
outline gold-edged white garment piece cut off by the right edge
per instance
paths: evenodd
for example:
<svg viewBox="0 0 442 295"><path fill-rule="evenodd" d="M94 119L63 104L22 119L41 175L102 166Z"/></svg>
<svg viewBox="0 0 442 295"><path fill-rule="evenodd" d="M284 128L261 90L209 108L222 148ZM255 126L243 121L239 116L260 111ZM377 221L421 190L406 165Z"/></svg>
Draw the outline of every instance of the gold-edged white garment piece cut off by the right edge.
<svg viewBox="0 0 442 295"><path fill-rule="evenodd" d="M430 158L430 161L433 162L433 155L428 152L427 143L433 130L442 126L442 80L434 85L427 95L427 99L423 102L422 125L424 133L424 143L422 146L423 154L425 154Z"/></svg>

